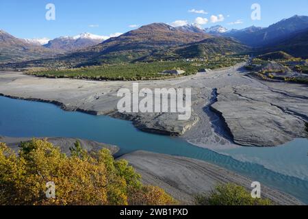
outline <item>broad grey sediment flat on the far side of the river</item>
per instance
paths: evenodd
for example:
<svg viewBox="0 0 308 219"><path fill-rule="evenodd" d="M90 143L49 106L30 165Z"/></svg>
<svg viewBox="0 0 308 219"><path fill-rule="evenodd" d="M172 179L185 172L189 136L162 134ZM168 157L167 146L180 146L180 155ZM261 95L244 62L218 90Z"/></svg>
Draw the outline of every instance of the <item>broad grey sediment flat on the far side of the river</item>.
<svg viewBox="0 0 308 219"><path fill-rule="evenodd" d="M229 149L277 146L305 138L308 121L307 86L259 81L244 70L230 68L162 81L139 81L139 88L192 88L192 116L178 114L120 113L120 88L132 90L131 81L47 79L23 73L0 73L0 94L44 101L69 111L109 115L131 120L142 131L181 136L196 146Z"/></svg>

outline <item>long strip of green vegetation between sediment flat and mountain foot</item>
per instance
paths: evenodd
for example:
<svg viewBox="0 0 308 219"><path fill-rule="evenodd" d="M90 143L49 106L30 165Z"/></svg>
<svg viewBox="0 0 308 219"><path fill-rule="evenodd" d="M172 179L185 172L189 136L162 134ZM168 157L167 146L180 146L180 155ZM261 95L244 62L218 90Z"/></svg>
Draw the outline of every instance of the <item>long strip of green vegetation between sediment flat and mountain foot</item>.
<svg viewBox="0 0 308 219"><path fill-rule="evenodd" d="M233 66L243 60L238 57L230 57L218 60L206 61L173 61L173 62L138 62L125 64L105 64L102 66L81 67L64 70L40 70L28 72L29 75L49 78L73 78L73 79L93 79L110 81L138 81L168 79L175 75L159 74L164 70L185 70L185 75L192 75L201 68L222 68Z"/></svg>

